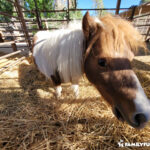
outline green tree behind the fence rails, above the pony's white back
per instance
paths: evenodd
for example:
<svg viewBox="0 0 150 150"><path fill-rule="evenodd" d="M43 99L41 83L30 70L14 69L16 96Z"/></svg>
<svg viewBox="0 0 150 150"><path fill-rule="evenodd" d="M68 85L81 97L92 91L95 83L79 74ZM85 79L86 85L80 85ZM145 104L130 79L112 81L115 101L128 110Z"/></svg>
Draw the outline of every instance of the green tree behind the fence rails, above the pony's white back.
<svg viewBox="0 0 150 150"><path fill-rule="evenodd" d="M48 10L54 10L54 9L67 9L67 0L36 0L37 7L39 11L48 11ZM34 0L25 0L24 2L25 8L28 10L35 10L35 3ZM74 8L74 0L69 1L70 8ZM35 14L31 13L25 13L26 17L34 18ZM60 13L48 13L43 12L40 13L41 17L44 18L55 18L55 19L65 19L66 18L66 12L60 12ZM79 19L82 17L81 12L70 12L70 17L74 19Z"/></svg>

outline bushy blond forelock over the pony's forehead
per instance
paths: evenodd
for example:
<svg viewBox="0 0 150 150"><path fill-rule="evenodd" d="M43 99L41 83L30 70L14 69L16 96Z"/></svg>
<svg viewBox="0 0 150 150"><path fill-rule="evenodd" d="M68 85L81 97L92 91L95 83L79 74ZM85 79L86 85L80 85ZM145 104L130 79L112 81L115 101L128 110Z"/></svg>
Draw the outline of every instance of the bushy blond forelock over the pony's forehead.
<svg viewBox="0 0 150 150"><path fill-rule="evenodd" d="M136 53L139 47L145 49L143 37L130 22L111 15L102 17L101 21L105 26L101 34L101 45L104 51Z"/></svg>

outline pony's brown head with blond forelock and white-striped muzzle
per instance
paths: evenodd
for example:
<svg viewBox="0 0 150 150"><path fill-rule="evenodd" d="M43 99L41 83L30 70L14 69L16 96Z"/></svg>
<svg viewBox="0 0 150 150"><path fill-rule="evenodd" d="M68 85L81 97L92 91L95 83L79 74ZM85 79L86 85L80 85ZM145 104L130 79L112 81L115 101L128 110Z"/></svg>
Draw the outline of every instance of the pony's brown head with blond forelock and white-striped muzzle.
<svg viewBox="0 0 150 150"><path fill-rule="evenodd" d="M113 19L122 20L110 17L108 22L113 22ZM135 44L138 41L132 41L132 35L128 35L129 41L126 40L128 33L117 29L120 21L116 22L117 26L112 25L115 22L109 26L107 17L100 21L91 18L89 13L84 16L83 32L86 39L84 70L89 81L111 105L115 116L134 128L142 128L150 119L150 101L131 67L134 56L132 48L135 48L132 42ZM124 20L122 23L128 24ZM130 24L126 25L126 28L128 27L129 32L138 35ZM121 26L119 28L121 30Z"/></svg>

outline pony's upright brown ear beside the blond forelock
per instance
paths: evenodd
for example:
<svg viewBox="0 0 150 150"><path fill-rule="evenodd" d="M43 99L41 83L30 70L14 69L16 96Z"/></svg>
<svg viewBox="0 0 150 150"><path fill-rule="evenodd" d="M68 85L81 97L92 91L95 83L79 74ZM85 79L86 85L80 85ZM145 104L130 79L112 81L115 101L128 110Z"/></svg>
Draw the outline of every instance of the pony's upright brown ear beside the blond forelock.
<svg viewBox="0 0 150 150"><path fill-rule="evenodd" d="M89 12L87 12L82 20L82 29L86 40L89 40L91 36L95 35L102 26L102 22L98 18L92 18Z"/></svg>

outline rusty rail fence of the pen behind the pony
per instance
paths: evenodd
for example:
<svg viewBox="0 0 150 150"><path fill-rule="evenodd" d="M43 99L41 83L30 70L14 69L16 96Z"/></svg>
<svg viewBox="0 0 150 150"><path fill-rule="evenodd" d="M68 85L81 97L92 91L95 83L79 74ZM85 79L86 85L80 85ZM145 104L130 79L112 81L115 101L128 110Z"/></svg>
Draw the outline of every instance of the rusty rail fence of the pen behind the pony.
<svg viewBox="0 0 150 150"><path fill-rule="evenodd" d="M99 11L102 14L103 11L113 12L116 15L120 15L121 17L127 18L133 22L133 24L139 29L139 31L144 35L145 40L149 39L150 36L150 5L149 3L144 4L142 6L133 6L130 8L120 8L121 0L117 0L116 8L100 8L100 9L78 9L76 6L71 8L69 5L69 0L67 0L66 9L63 10L40 10L37 7L36 0L35 2L35 10L28 10L24 6L21 6L19 0L6 0L14 5L15 10L14 13L17 15L10 15L7 12L1 12L0 15L7 16L10 19L9 22L3 21L0 22L0 31L3 32L3 38L6 40L10 39L11 42L0 43L0 48L12 48L13 52L10 54L6 54L0 57L1 59L16 55L16 54L29 54L32 48L32 37L33 34L39 30L52 30L58 29L61 25L65 25L69 23L73 18L71 18L70 13L76 11ZM121 12L121 13L120 13ZM26 18L25 13L35 14L36 18ZM63 19L56 18L42 18L41 13L65 13L65 17ZM34 28L33 28L34 26ZM19 45L18 43L23 42L23 45ZM26 48L25 48L26 47ZM25 56L23 56L25 58ZM22 61L22 59L20 59ZM18 60L17 63L20 63ZM16 65L16 64L15 64ZM9 67L14 66L12 64ZM0 68L1 70L9 69L9 67L5 67L5 69Z"/></svg>

